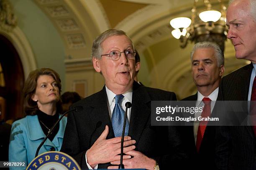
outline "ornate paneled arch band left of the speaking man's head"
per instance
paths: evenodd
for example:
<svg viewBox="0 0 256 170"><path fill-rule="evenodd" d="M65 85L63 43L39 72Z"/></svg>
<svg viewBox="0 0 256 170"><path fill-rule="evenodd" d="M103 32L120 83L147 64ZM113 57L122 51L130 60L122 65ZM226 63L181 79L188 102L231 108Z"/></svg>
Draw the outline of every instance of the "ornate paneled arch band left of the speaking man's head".
<svg viewBox="0 0 256 170"><path fill-rule="evenodd" d="M48 16L64 41L67 59L90 57L92 41L99 34L87 0L33 0ZM95 0L91 4L97 3ZM71 56L71 57L70 57Z"/></svg>

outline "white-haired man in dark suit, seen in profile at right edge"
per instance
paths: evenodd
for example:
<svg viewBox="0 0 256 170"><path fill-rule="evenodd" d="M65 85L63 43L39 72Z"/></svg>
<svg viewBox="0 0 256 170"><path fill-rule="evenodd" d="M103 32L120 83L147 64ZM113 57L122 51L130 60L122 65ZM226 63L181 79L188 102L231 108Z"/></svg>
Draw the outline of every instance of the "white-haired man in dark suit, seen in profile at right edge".
<svg viewBox="0 0 256 170"><path fill-rule="evenodd" d="M256 0L232 0L227 10L228 38L236 58L251 64L223 77L220 100L256 100ZM246 117L249 113L245 112ZM225 113L223 113L225 114ZM242 113L241 113L242 114ZM256 170L255 126L219 127L216 163L221 170Z"/></svg>

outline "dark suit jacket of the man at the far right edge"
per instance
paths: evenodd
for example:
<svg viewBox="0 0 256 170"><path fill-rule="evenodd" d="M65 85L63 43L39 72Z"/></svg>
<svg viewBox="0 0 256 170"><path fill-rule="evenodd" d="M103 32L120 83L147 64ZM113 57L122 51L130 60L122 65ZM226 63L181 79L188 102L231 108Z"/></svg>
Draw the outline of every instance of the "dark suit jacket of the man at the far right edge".
<svg viewBox="0 0 256 170"><path fill-rule="evenodd" d="M223 77L218 100L247 101L252 69L251 63ZM218 169L256 170L256 142L250 126L221 126L216 132Z"/></svg>

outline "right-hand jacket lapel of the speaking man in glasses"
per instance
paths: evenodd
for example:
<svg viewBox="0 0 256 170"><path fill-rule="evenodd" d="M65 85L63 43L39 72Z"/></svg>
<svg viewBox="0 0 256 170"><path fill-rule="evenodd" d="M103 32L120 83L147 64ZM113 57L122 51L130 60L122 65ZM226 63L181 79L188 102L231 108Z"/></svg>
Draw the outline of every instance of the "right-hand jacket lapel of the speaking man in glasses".
<svg viewBox="0 0 256 170"><path fill-rule="evenodd" d="M139 141L143 129L150 119L151 98L144 88L140 88L136 81L133 83L133 98L128 136L136 142Z"/></svg>

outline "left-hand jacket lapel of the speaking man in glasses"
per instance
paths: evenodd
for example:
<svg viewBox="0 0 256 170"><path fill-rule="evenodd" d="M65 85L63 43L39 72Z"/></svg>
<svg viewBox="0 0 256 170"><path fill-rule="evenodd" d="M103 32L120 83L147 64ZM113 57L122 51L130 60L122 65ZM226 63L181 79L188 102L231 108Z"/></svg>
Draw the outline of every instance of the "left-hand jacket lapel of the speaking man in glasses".
<svg viewBox="0 0 256 170"><path fill-rule="evenodd" d="M93 110L89 113L89 115L93 124L95 124L95 134L92 135L92 137L95 137L95 139L92 139L92 142L97 140L100 134L104 131L105 125L108 125L109 127L107 139L115 137L108 112L108 100L105 86L91 102L91 107Z"/></svg>

